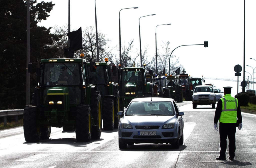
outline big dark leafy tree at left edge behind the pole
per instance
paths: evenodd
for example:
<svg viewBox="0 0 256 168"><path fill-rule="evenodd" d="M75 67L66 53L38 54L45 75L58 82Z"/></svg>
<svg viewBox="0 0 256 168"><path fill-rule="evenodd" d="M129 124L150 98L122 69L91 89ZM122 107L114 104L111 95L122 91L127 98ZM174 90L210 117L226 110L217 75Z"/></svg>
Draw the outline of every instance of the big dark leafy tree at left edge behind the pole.
<svg viewBox="0 0 256 168"><path fill-rule="evenodd" d="M59 37L37 23L46 20L52 2L30 0L30 61L55 56L51 45ZM27 1L0 2L0 109L24 108L26 103ZM35 81L31 78L31 92Z"/></svg>

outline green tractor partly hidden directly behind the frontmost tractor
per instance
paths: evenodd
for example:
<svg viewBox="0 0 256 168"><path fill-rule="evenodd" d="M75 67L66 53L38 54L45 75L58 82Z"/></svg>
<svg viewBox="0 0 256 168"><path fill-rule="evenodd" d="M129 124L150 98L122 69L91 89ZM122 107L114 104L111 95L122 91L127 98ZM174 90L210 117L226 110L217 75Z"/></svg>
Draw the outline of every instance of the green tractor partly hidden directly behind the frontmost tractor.
<svg viewBox="0 0 256 168"><path fill-rule="evenodd" d="M88 66L93 66L89 71L89 77L94 85L100 90L102 98L103 129L113 130L118 128L120 111L120 95L117 83L113 82L113 76L116 76L117 68L115 65L108 64L108 58L105 62L88 62Z"/></svg>

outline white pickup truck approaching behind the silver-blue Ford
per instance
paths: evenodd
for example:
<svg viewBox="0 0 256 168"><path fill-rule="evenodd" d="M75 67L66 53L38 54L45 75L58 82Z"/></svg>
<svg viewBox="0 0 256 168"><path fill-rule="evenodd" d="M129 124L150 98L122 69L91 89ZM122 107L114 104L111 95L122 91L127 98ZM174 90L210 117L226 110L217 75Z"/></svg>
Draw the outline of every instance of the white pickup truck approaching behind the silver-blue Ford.
<svg viewBox="0 0 256 168"><path fill-rule="evenodd" d="M212 108L215 108L215 92L217 91L214 91L211 85L196 86L192 96L193 109L195 109L197 105L211 105Z"/></svg>

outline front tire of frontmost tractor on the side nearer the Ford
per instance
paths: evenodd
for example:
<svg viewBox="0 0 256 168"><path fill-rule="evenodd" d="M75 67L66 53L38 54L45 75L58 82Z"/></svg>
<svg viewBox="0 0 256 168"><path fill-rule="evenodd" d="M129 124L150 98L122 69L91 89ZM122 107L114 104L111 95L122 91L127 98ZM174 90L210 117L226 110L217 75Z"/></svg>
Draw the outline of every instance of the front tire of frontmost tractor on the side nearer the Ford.
<svg viewBox="0 0 256 168"><path fill-rule="evenodd" d="M92 122L91 108L87 104L77 106L76 138L77 141L88 142L91 139Z"/></svg>

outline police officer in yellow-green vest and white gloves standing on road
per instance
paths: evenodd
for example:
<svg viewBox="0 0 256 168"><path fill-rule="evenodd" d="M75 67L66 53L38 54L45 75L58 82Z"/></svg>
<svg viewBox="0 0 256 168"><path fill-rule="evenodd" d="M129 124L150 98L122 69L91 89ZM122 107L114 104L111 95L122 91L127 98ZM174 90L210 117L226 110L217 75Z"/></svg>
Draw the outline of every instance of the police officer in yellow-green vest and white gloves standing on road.
<svg viewBox="0 0 256 168"><path fill-rule="evenodd" d="M234 159L236 151L236 127L241 130L242 128L242 115L241 109L237 98L231 96L232 87L223 87L224 97L220 98L217 103L215 116L214 116L214 128L220 133L220 156L217 160L226 160L227 150L227 137L229 139L229 158ZM239 123L239 124L238 124ZM237 125L238 124L238 125Z"/></svg>

